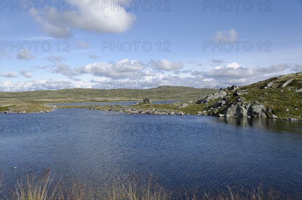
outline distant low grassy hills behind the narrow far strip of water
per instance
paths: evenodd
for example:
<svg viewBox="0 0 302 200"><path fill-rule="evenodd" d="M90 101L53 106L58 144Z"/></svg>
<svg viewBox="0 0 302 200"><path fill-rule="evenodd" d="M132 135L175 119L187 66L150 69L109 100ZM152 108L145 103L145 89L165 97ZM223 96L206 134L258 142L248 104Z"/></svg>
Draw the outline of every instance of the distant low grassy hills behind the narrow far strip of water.
<svg viewBox="0 0 302 200"><path fill-rule="evenodd" d="M135 89L64 89L53 91L0 92L0 111L38 112L50 110L48 103L98 103L114 101L197 100L215 92L212 89L196 89L183 86L162 86L146 90Z"/></svg>

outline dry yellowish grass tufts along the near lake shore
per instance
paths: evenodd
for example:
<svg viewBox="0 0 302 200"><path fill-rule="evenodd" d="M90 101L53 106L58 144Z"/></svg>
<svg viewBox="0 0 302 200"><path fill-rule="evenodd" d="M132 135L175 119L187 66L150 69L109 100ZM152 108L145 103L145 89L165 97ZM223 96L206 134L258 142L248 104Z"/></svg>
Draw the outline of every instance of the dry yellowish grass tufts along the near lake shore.
<svg viewBox="0 0 302 200"><path fill-rule="evenodd" d="M0 180L0 186L2 181ZM168 199L284 199L280 195L270 190L264 192L259 186L251 191L234 191L229 187L228 192L218 192L209 194L206 192L199 193L197 189L191 195L188 193L179 193L168 191L158 185L151 176L146 179L139 179L135 175L130 175L126 180L119 180L111 186L93 188L86 184L74 183L68 188L64 188L60 181L54 183L50 177L50 170L46 170L41 176L28 175L24 180L18 179L15 186L12 186L7 196L2 199L13 200L88 200L88 199L108 199L108 200L168 200ZM197 195L198 194L198 195ZM201 194L201 195L200 195ZM198 197L197 197L198 196ZM289 199L289 198L287 198Z"/></svg>

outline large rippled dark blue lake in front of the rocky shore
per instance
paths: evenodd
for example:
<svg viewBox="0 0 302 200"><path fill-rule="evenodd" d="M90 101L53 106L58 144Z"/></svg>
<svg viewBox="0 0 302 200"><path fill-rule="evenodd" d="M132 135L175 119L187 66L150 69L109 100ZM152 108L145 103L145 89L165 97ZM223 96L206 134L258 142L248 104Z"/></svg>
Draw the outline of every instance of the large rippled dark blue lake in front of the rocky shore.
<svg viewBox="0 0 302 200"><path fill-rule="evenodd" d="M97 186L130 172L152 173L188 192L274 188L302 196L302 123L197 115L130 115L100 110L0 113L1 172L51 166L55 178Z"/></svg>

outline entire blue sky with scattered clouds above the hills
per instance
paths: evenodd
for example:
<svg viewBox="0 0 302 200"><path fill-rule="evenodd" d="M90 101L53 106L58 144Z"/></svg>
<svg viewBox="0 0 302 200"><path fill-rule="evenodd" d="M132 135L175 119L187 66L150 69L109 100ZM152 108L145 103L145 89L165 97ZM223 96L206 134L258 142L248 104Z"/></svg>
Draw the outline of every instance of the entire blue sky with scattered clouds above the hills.
<svg viewBox="0 0 302 200"><path fill-rule="evenodd" d="M302 1L3 1L1 91L225 88L302 71Z"/></svg>

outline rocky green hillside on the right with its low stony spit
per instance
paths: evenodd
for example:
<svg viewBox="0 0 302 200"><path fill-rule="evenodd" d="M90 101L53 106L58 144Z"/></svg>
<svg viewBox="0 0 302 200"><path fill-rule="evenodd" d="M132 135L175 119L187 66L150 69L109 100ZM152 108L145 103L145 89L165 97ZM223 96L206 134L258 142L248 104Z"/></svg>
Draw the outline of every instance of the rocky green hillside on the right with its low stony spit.
<svg viewBox="0 0 302 200"><path fill-rule="evenodd" d="M281 87L286 82L288 85ZM215 91L216 94L223 93L223 97L212 98L206 103L199 103L205 99L205 97L203 97L200 99L190 98L191 101L187 102L169 104L139 103L131 106L106 105L82 107L129 113L220 114L220 116L227 116L224 115L225 111L232 108L233 105L233 107L236 106L234 109L235 114L230 116L250 117L261 115L263 117L301 120L302 91L299 92L300 89L302 89L302 73L295 73L274 77L248 86L235 88L234 90L223 89L221 91ZM224 101L223 105L221 105L221 101Z"/></svg>

